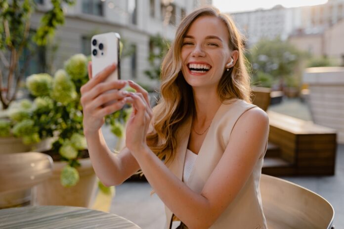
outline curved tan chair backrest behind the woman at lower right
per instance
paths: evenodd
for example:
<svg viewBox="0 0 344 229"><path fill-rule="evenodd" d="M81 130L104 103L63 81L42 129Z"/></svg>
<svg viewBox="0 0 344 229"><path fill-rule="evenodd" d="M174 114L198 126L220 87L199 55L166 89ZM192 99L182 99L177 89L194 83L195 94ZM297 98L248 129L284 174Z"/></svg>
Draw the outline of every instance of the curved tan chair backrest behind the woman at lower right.
<svg viewBox="0 0 344 229"><path fill-rule="evenodd" d="M331 229L334 209L315 192L265 174L260 192L269 229Z"/></svg>

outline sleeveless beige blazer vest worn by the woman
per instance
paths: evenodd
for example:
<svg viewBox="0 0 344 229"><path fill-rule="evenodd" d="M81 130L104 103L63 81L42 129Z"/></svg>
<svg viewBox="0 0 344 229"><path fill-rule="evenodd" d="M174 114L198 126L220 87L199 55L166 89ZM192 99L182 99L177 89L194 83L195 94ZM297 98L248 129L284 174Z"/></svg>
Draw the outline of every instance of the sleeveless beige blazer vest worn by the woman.
<svg viewBox="0 0 344 229"><path fill-rule="evenodd" d="M188 186L193 191L201 193L228 144L234 124L245 111L254 107L256 106L240 99L228 100L225 104L220 106L198 153L188 181ZM169 169L180 180L183 175L190 129L191 118L185 121L179 128L177 132L177 141L179 145L176 157L172 162L167 164ZM249 139L247 139L247 141L248 143L250 142ZM259 179L265 152L266 147L264 152L261 152L261 156L245 186L215 221L211 229L266 229L266 221L262 210L259 190ZM173 214L166 206L165 211L167 219L166 228L170 229Z"/></svg>

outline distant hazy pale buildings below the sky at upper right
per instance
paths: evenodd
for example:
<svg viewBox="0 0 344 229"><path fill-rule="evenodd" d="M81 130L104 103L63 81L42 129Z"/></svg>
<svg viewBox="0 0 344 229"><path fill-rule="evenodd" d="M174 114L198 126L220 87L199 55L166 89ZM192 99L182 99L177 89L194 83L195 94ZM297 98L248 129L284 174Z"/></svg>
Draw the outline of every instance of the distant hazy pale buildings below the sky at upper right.
<svg viewBox="0 0 344 229"><path fill-rule="evenodd" d="M344 18L344 0L328 0L325 4L230 14L239 30L247 38L248 47L261 38L280 37L285 40L296 34L319 34Z"/></svg>

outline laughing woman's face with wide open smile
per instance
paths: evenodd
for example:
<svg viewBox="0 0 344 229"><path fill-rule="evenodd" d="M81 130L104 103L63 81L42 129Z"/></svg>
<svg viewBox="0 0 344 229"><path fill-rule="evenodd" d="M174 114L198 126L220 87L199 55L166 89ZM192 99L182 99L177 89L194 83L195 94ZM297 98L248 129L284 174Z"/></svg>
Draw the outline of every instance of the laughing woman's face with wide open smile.
<svg viewBox="0 0 344 229"><path fill-rule="evenodd" d="M201 16L191 24L181 48L181 71L188 84L216 89L225 65L231 61L228 40L228 29L215 16Z"/></svg>

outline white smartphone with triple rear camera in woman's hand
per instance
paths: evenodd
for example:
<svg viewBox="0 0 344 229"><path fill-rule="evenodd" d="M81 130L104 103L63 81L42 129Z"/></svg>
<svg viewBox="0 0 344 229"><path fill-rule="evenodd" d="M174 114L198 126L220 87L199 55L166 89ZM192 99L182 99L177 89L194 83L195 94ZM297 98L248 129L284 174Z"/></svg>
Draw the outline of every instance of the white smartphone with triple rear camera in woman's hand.
<svg viewBox="0 0 344 229"><path fill-rule="evenodd" d="M118 33L97 34L91 38L92 77L116 63L116 70L104 81L118 80L120 74L120 40Z"/></svg>

